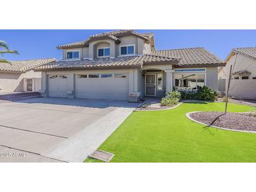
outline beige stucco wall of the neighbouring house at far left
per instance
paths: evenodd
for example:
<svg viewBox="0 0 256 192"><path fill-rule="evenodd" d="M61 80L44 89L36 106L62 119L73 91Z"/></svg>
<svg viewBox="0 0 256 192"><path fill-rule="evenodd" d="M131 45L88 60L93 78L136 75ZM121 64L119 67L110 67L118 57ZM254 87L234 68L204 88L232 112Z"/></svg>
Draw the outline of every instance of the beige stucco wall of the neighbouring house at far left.
<svg viewBox="0 0 256 192"><path fill-rule="evenodd" d="M27 71L25 74L0 72L0 92L22 92L27 91L26 78L40 78L41 72ZM38 81L36 88L38 88ZM38 88L40 89L40 88Z"/></svg>

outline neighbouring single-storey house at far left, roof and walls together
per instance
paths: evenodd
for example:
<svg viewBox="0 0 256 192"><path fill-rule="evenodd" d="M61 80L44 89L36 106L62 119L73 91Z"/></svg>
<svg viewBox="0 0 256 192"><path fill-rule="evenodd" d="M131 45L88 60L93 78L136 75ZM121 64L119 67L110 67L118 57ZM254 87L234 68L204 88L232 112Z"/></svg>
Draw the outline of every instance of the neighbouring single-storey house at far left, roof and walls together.
<svg viewBox="0 0 256 192"><path fill-rule="evenodd" d="M34 67L55 62L55 59L0 62L0 92L27 92L41 89L41 72Z"/></svg>

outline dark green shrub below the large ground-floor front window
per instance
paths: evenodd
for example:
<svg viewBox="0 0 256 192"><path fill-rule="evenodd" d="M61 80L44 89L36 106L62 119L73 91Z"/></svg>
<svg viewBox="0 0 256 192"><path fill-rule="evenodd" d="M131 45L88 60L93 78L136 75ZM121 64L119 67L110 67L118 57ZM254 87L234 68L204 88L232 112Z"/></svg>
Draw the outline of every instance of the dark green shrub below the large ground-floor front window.
<svg viewBox="0 0 256 192"><path fill-rule="evenodd" d="M180 93L182 100L215 101L217 98L217 91L207 86L203 86L197 91L180 91Z"/></svg>

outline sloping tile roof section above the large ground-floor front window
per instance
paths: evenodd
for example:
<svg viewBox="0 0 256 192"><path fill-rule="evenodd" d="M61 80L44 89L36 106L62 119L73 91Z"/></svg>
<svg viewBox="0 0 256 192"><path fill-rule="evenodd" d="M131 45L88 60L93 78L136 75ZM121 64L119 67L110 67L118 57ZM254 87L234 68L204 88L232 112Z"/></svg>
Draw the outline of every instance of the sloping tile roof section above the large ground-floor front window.
<svg viewBox="0 0 256 192"><path fill-rule="evenodd" d="M170 49L170 50L155 50L152 53L161 56L167 57L177 57L180 58L180 62L178 65L208 65L208 64L216 64L216 66L220 64L224 64L220 58L208 52L205 48L180 48L180 49Z"/></svg>

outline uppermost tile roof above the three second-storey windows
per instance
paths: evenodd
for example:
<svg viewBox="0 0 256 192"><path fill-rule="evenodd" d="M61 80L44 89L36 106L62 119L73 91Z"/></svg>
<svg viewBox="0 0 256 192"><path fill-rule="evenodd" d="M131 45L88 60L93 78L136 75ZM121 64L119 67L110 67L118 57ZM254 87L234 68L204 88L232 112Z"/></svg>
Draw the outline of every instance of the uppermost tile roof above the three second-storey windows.
<svg viewBox="0 0 256 192"><path fill-rule="evenodd" d="M120 43L121 41L119 40L119 37L128 36L128 35L137 36L140 39L144 39L145 41L149 41L152 38L152 36L154 36L151 33L139 34L139 33L135 32L134 30L118 30L118 31L113 31L113 32L105 32L102 34L95 34L95 35L89 36L89 38L85 41L69 43L66 45L58 46L57 48L58 49L78 48L81 46L88 46L88 43L90 43L90 41L101 40L101 39L112 39L116 43Z"/></svg>

